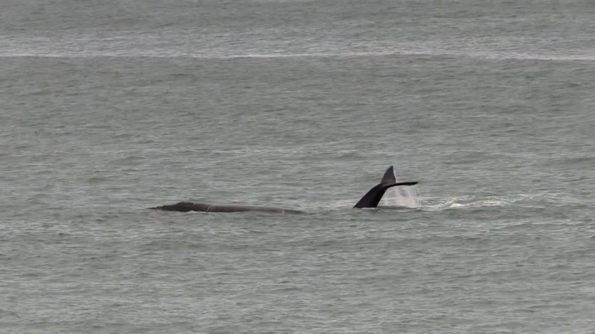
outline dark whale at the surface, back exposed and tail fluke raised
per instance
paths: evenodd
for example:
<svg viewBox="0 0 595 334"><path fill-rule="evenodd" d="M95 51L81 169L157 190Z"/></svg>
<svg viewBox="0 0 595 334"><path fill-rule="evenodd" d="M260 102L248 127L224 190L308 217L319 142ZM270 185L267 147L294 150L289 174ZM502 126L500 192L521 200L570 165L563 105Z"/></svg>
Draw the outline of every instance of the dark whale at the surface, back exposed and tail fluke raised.
<svg viewBox="0 0 595 334"><path fill-rule="evenodd" d="M384 196L384 193L389 188L396 187L397 185L416 185L419 182L396 182L394 179L393 166L390 166L383 177L380 179L380 183L374 185L368 192L353 206L356 209L363 209L367 207L377 207L378 203ZM248 212L248 211L259 211L259 212L273 212L273 213L305 213L301 210L284 209L281 207L273 206L255 206L255 205L236 205L236 204L205 204L205 203L192 203L181 201L176 204L167 204L163 206L149 207L148 209L163 210L163 211L178 211L178 212Z"/></svg>

